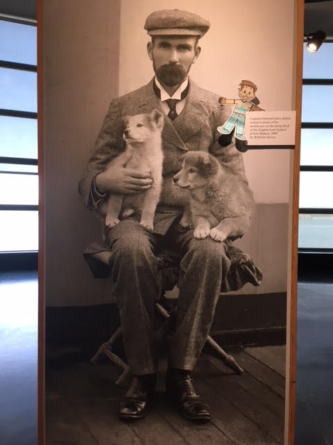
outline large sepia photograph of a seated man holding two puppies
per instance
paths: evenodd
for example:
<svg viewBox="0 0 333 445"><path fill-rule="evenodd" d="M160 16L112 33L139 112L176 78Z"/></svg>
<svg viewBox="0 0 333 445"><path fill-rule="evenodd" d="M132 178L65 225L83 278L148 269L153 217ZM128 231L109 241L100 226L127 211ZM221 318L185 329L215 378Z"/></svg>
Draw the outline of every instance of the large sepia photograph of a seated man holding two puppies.
<svg viewBox="0 0 333 445"><path fill-rule="evenodd" d="M47 444L284 443L295 8L44 2Z"/></svg>

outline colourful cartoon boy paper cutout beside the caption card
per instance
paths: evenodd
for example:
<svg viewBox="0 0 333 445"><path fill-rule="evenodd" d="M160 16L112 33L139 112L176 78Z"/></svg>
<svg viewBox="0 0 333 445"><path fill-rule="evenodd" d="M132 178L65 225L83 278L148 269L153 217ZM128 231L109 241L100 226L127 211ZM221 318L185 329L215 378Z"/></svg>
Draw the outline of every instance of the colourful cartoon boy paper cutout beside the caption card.
<svg viewBox="0 0 333 445"><path fill-rule="evenodd" d="M232 129L236 126L236 134L234 135L237 139L246 140L244 134L245 127L245 114L247 111L262 111L263 108L259 108L253 101L255 99L255 92L257 91L257 86L251 81L241 81L239 83L238 95L241 99L225 99L225 97L219 98L219 104L229 105L236 104L234 111L230 118L221 127L217 128L217 131L222 134L231 133ZM257 104L259 100L256 98Z"/></svg>

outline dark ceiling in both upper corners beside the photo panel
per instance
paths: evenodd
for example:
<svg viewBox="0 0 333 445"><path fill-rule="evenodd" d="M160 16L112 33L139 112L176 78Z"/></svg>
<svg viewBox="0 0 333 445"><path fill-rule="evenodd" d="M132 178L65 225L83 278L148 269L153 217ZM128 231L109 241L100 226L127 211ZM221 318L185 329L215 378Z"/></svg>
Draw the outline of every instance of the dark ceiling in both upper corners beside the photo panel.
<svg viewBox="0 0 333 445"><path fill-rule="evenodd" d="M37 0L0 0L0 13L36 18ZM322 29L333 38L333 1L305 0L305 34Z"/></svg>

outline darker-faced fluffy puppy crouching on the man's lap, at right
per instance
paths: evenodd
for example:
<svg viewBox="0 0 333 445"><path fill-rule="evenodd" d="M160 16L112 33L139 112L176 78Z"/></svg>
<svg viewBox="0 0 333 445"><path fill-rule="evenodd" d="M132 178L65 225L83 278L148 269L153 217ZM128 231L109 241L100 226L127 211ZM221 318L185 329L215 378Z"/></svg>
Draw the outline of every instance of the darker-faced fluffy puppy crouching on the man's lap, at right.
<svg viewBox="0 0 333 445"><path fill-rule="evenodd" d="M254 199L246 179L225 172L211 154L185 154L173 182L189 191L189 209L180 225L193 227L195 238L235 239L250 226Z"/></svg>

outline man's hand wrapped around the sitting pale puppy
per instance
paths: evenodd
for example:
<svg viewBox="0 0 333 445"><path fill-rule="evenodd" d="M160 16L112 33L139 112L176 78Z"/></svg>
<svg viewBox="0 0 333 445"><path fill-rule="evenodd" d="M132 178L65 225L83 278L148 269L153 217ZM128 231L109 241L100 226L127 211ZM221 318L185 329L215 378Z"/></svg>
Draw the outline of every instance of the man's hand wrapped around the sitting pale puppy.
<svg viewBox="0 0 333 445"><path fill-rule="evenodd" d="M108 170L96 176L96 187L100 193L112 192L128 195L130 193L144 192L151 188L153 179L150 173L142 173L138 170L124 167L128 157L126 159L119 157L119 161L116 161Z"/></svg>

